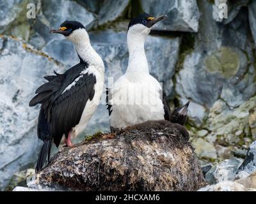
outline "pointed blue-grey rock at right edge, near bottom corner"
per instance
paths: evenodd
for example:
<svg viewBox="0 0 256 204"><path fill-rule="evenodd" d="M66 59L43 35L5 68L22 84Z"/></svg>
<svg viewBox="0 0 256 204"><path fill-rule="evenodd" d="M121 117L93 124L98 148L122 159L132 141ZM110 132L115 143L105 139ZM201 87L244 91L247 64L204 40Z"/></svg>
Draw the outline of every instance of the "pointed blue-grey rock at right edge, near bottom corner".
<svg viewBox="0 0 256 204"><path fill-rule="evenodd" d="M243 164L241 164L238 171L245 171L246 173L256 171L256 141L250 145Z"/></svg>

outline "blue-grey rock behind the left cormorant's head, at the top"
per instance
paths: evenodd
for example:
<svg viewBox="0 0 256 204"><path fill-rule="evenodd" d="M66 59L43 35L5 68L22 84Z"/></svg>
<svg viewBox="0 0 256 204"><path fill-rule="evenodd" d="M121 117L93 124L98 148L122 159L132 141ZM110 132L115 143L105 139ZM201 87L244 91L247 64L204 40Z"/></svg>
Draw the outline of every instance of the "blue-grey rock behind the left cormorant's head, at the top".
<svg viewBox="0 0 256 204"><path fill-rule="evenodd" d="M63 39L60 34L50 34L50 31L51 29L58 29L60 24L65 20L77 20L81 22L86 29L90 29L95 24L96 17L95 14L86 10L86 8L76 3L76 1L44 1L40 13L36 15L35 22L33 22L33 32L31 32L29 43L40 49L52 39ZM40 39L39 45L38 38ZM56 45L55 41L53 41L52 47L54 45ZM62 50L68 50L68 48L69 47L61 46Z"/></svg>

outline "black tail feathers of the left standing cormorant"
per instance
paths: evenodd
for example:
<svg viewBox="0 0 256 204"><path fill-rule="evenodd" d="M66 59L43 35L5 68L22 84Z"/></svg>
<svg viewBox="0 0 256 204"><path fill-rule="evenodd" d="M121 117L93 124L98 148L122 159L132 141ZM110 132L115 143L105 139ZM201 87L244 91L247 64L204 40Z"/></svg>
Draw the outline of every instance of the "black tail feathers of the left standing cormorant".
<svg viewBox="0 0 256 204"><path fill-rule="evenodd" d="M52 139L44 140L44 144L40 150L40 153L37 159L36 172L42 170L44 164L46 163L46 157L48 159L48 162L50 161L51 147L52 147Z"/></svg>

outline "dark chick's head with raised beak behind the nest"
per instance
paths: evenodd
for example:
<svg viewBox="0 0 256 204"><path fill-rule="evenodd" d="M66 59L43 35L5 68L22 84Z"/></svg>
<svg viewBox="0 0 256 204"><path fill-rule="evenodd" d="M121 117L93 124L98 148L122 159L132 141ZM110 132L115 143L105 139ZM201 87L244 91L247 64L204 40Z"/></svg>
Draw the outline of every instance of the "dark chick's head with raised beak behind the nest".
<svg viewBox="0 0 256 204"><path fill-rule="evenodd" d="M179 106L174 108L171 116L170 122L178 123L182 126L187 122L187 113L188 113L189 101L184 106Z"/></svg>

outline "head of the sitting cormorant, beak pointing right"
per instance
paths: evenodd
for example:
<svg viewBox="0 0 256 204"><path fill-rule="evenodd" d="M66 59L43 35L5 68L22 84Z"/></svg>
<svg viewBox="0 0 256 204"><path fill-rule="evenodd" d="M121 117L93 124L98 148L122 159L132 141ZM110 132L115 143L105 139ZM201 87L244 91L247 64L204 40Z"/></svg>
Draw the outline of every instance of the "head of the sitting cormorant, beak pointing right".
<svg viewBox="0 0 256 204"><path fill-rule="evenodd" d="M148 13L142 13L136 18L133 18L128 26L127 34L146 34L150 33L152 26L159 22L160 20L166 19L166 15L161 15L159 17L153 17Z"/></svg>

